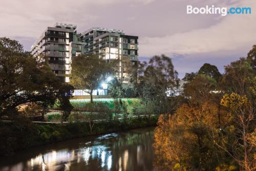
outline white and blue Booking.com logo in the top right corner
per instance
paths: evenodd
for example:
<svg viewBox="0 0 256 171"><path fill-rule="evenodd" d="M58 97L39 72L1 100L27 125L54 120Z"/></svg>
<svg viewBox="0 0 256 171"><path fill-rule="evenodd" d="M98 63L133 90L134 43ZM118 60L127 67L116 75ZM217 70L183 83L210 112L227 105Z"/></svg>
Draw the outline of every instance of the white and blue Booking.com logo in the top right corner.
<svg viewBox="0 0 256 171"><path fill-rule="evenodd" d="M221 14L222 16L226 16L227 14L251 14L251 8L249 7L215 7L212 6L206 6L202 8L194 7L191 5L187 5L187 14Z"/></svg>

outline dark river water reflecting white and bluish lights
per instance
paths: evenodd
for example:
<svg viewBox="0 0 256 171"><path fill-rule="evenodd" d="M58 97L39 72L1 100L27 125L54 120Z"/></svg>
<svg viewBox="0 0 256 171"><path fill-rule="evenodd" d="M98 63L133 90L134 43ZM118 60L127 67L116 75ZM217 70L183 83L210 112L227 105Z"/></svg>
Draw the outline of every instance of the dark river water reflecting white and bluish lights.
<svg viewBox="0 0 256 171"><path fill-rule="evenodd" d="M0 170L155 170L154 128L72 139L0 158Z"/></svg>

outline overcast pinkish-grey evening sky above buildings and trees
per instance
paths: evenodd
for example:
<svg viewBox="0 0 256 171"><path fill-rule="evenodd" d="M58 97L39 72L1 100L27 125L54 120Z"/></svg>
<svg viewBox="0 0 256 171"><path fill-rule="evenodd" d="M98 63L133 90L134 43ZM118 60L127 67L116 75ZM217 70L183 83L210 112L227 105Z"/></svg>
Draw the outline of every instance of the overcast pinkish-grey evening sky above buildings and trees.
<svg viewBox="0 0 256 171"><path fill-rule="evenodd" d="M250 15L187 14L193 7L250 7ZM124 30L139 36L139 60L165 54L179 78L203 63L224 66L246 57L256 44L256 1L252 0L2 0L0 37L20 41L29 51L47 28L58 23Z"/></svg>

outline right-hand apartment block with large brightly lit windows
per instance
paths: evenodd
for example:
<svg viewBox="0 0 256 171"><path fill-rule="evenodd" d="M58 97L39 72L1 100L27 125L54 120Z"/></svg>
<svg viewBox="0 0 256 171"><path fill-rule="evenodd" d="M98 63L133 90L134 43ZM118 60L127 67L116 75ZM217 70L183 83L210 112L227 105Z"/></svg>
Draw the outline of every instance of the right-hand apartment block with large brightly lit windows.
<svg viewBox="0 0 256 171"><path fill-rule="evenodd" d="M138 36L125 35L123 30L93 27L81 34L80 41L86 42L86 54L94 53L107 62L111 59L128 58L133 65L138 62ZM119 77L124 77L120 62Z"/></svg>

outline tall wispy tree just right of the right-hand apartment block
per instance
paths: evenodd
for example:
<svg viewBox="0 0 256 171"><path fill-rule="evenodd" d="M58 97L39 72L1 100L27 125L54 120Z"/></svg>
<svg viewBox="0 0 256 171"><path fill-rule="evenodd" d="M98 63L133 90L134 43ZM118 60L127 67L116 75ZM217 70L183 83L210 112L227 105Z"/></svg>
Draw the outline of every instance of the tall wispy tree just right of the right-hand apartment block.
<svg viewBox="0 0 256 171"><path fill-rule="evenodd" d="M143 75L139 76L138 94L145 106L145 115L158 106L161 113L162 105L167 99L166 92L174 94L176 87L177 71L174 70L172 60L165 56L154 56L148 65L140 67Z"/></svg>

